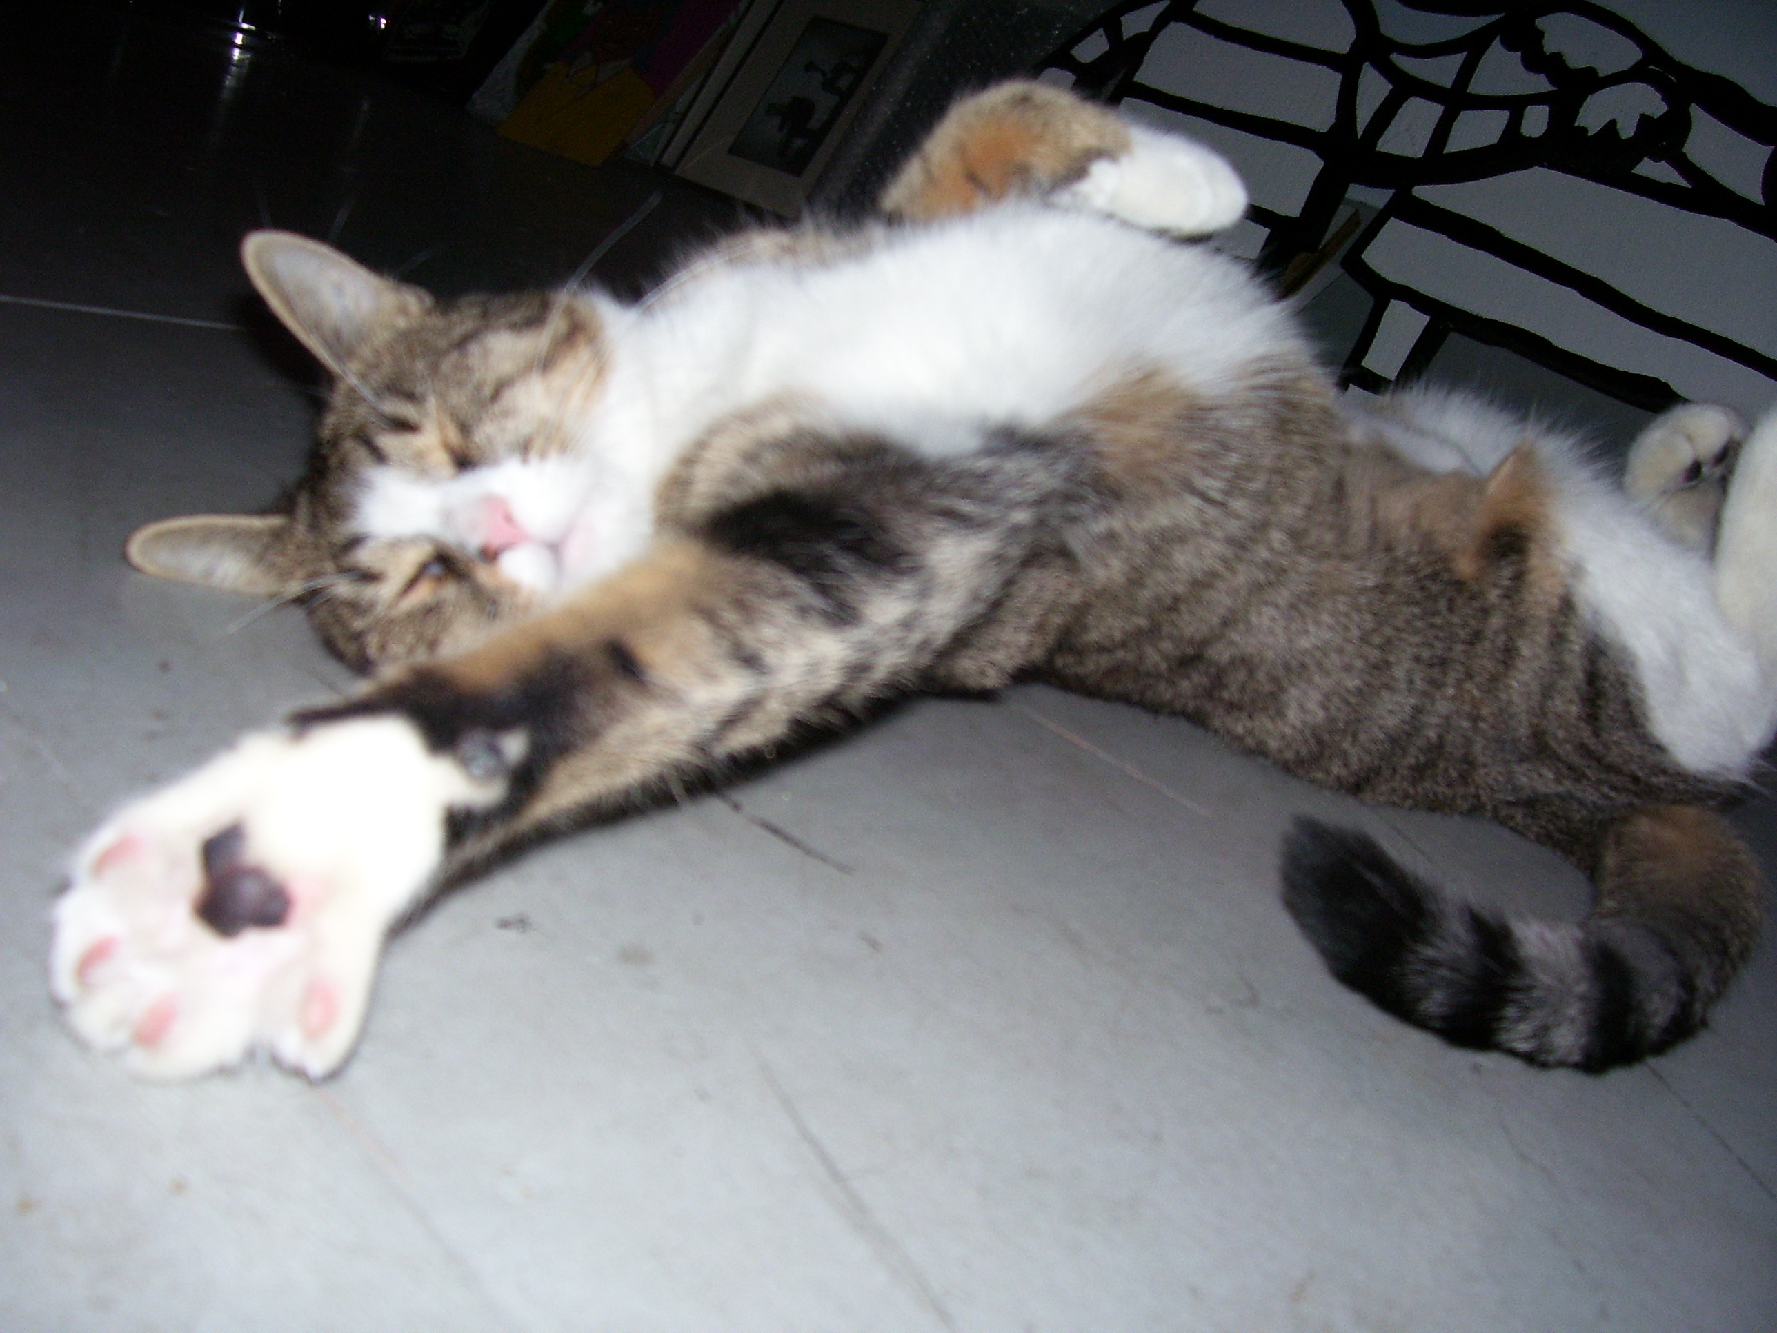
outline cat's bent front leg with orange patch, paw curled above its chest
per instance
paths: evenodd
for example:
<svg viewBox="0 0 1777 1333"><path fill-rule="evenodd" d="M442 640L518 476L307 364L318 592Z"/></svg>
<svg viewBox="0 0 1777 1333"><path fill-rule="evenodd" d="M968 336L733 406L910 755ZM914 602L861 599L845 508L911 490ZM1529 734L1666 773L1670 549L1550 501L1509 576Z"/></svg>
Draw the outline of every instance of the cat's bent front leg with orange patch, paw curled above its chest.
<svg viewBox="0 0 1777 1333"><path fill-rule="evenodd" d="M1246 187L1221 155L1031 82L956 103L880 206L926 222L1011 197L1047 197L1183 236L1219 231L1246 212Z"/></svg>

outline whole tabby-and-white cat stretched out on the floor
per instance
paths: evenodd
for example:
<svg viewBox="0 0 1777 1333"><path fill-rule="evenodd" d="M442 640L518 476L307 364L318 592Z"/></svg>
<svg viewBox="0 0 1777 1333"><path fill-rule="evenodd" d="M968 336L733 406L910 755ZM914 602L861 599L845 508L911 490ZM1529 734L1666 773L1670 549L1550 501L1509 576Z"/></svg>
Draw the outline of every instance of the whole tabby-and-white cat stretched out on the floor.
<svg viewBox="0 0 1777 1333"><path fill-rule="evenodd" d="M1594 873L1585 922L1505 922L1301 825L1287 903L1384 1008L1590 1070L1695 1031L1759 928L1711 807L1777 723L1777 418L1727 487L1743 428L1676 409L1631 496L1470 400L1347 411L1244 265L1155 235L1242 208L1207 149L1015 84L885 222L741 236L638 306L435 302L251 236L336 377L315 464L288 514L130 555L304 595L373 679L87 841L75 1029L151 1077L325 1075L441 876L883 695L1034 677Z"/></svg>

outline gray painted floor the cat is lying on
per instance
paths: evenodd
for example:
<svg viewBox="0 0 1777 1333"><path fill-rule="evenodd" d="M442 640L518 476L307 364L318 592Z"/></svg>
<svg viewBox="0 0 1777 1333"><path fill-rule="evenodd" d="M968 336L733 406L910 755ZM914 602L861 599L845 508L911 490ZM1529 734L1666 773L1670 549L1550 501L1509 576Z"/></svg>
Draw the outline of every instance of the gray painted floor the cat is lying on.
<svg viewBox="0 0 1777 1333"><path fill-rule="evenodd" d="M1642 1068L1446 1049L1297 937L1290 816L1546 912L1573 871L1045 690L910 704L451 894L322 1086L80 1049L44 983L76 837L347 684L295 611L119 556L300 466L309 371L240 233L556 281L659 183L215 28L34 9L0 18L0 1328L1777 1328L1772 949ZM601 272L713 212L668 183ZM1770 803L1740 818L1777 866Z"/></svg>

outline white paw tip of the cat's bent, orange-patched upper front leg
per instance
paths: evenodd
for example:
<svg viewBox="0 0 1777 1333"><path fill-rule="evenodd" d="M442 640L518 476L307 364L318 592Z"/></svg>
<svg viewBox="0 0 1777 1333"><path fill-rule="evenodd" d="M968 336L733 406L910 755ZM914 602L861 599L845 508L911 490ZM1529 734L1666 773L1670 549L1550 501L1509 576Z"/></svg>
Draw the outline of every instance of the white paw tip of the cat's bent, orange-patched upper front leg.
<svg viewBox="0 0 1777 1333"><path fill-rule="evenodd" d="M1226 158L1139 124L1128 133L1127 153L1100 158L1056 199L1182 236L1207 236L1240 220L1246 185Z"/></svg>

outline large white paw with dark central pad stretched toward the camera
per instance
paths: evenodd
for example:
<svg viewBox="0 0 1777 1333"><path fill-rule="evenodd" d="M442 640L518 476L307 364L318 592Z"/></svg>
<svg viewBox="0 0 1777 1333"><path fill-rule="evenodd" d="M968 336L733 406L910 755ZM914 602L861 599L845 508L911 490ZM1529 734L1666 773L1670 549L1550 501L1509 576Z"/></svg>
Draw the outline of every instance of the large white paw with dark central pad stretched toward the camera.
<svg viewBox="0 0 1777 1333"><path fill-rule="evenodd" d="M55 997L142 1077L261 1049L323 1077L363 1027L384 933L439 866L444 812L487 798L403 718L249 736L80 850Z"/></svg>

